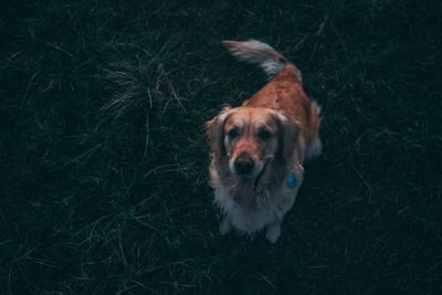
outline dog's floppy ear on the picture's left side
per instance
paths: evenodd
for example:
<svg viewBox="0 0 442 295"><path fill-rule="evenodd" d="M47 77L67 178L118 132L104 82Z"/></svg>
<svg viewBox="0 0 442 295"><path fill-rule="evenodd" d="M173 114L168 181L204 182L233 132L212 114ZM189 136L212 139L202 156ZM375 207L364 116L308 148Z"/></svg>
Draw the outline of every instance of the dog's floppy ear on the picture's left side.
<svg viewBox="0 0 442 295"><path fill-rule="evenodd" d="M231 109L230 106L224 106L218 116L206 123L206 133L209 137L213 156L217 159L221 159L227 155L224 147L224 123Z"/></svg>

